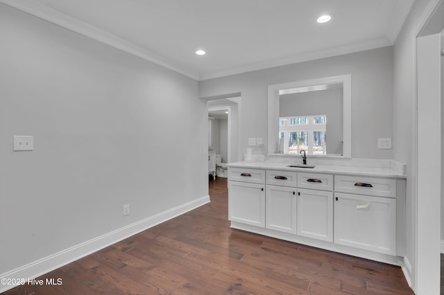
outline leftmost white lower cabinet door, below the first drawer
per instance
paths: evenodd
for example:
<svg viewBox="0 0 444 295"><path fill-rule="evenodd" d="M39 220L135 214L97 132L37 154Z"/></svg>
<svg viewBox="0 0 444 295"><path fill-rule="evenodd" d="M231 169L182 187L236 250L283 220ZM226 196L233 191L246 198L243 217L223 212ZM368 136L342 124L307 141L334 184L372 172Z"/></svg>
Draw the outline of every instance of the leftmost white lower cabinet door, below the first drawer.
<svg viewBox="0 0 444 295"><path fill-rule="evenodd" d="M264 184L228 181L228 219L265 227Z"/></svg>

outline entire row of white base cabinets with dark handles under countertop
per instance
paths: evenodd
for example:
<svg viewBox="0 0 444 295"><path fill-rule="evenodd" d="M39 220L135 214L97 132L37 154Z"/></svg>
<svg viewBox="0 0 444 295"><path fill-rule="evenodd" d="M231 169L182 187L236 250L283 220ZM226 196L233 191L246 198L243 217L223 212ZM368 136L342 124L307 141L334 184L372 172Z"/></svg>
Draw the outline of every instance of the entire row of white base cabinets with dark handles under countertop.
<svg viewBox="0 0 444 295"><path fill-rule="evenodd" d="M234 229L398 264L405 179L275 168L228 169Z"/></svg>

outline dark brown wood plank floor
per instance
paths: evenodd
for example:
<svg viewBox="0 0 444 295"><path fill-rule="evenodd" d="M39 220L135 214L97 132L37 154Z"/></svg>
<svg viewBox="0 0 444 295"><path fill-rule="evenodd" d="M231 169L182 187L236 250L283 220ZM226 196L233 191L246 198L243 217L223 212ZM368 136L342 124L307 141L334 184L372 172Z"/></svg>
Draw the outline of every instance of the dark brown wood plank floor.
<svg viewBox="0 0 444 295"><path fill-rule="evenodd" d="M400 267L230 229L226 179L210 197L5 294L413 294Z"/></svg>

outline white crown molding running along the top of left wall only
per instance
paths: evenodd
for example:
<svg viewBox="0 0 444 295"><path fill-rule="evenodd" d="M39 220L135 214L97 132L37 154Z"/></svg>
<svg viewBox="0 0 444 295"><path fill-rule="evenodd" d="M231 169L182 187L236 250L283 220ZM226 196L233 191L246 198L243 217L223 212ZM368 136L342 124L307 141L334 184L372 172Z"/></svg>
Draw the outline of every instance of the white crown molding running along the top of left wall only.
<svg viewBox="0 0 444 295"><path fill-rule="evenodd" d="M121 51L125 51L126 53L140 57L148 62L153 62L163 66L164 68L176 71L177 73L186 75L194 80L198 80L198 73L194 71L174 65L155 53L147 51L146 49L128 42L125 39L121 39L120 37L107 33L104 30L91 26L83 21L75 19L74 17L65 15L64 13L45 6L40 2L34 0L0 0L0 2L13 8L17 8L18 10L22 10L30 15L34 15L35 17L39 17L40 19L49 21L57 26L61 26L81 35L85 35L103 44L118 48Z"/></svg>

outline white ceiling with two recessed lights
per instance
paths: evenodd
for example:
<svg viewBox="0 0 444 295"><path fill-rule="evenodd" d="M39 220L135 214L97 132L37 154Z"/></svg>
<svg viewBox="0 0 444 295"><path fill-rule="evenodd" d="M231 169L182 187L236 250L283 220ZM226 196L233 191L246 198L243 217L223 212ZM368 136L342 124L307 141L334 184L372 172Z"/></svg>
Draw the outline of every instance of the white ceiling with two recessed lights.
<svg viewBox="0 0 444 295"><path fill-rule="evenodd" d="M390 46L413 0L0 0L196 80ZM324 12L334 15L317 24ZM207 54L198 56L195 51Z"/></svg>

